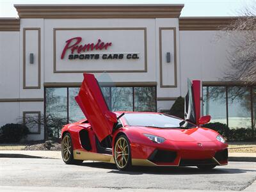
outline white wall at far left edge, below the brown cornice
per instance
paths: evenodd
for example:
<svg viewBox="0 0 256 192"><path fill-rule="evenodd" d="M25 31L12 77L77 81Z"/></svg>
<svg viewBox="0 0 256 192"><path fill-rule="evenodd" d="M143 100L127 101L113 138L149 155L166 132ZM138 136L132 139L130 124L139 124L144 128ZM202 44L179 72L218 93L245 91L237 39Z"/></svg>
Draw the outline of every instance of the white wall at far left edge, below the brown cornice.
<svg viewBox="0 0 256 192"><path fill-rule="evenodd" d="M19 32L0 31L0 99L19 98ZM0 126L16 122L18 102L0 102Z"/></svg>

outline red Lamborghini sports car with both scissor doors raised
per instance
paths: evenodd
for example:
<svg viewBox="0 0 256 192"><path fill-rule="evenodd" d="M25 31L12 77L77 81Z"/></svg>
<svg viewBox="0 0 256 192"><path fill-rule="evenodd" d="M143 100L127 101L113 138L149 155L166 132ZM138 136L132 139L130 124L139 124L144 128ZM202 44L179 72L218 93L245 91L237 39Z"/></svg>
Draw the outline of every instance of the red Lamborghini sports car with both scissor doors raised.
<svg viewBox="0 0 256 192"><path fill-rule="evenodd" d="M200 118L200 81L189 83L186 120L163 113L111 112L93 74L84 74L76 101L86 118L61 131L61 154L67 164L93 160L129 170L131 166L212 169L228 163L224 138L200 126L211 119Z"/></svg>

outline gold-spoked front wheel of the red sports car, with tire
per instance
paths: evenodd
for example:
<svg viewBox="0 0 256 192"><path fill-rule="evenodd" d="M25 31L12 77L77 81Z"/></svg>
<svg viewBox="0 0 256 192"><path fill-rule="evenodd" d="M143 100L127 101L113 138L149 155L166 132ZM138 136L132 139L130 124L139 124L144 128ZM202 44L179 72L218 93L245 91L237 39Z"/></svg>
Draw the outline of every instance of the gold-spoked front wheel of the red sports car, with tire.
<svg viewBox="0 0 256 192"><path fill-rule="evenodd" d="M131 170L131 147L127 136L120 135L115 142L114 159L118 170Z"/></svg>

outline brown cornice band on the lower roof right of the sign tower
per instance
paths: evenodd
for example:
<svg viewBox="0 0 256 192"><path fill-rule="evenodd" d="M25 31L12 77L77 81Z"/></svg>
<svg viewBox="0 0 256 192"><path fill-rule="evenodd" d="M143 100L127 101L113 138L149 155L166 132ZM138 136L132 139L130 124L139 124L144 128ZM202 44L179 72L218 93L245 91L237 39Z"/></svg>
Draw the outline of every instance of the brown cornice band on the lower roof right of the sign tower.
<svg viewBox="0 0 256 192"><path fill-rule="evenodd" d="M239 17L180 17L180 31L221 30Z"/></svg>

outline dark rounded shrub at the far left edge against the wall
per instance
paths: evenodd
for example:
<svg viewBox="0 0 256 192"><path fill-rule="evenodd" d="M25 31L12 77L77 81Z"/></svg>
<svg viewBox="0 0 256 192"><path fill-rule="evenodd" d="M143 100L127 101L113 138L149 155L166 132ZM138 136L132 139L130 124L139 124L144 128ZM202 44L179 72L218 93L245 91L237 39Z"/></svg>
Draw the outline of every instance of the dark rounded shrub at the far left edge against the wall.
<svg viewBox="0 0 256 192"><path fill-rule="evenodd" d="M29 133L28 127L22 124L6 124L0 128L0 143L18 143L26 138Z"/></svg>

